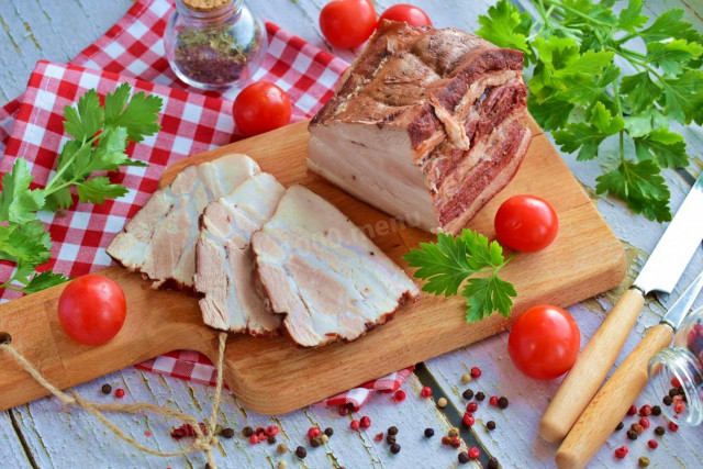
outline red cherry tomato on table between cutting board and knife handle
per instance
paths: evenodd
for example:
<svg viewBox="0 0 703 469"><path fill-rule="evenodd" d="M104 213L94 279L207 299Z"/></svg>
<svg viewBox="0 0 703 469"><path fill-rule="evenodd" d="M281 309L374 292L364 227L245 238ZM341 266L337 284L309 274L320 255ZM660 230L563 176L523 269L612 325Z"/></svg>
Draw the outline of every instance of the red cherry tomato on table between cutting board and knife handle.
<svg viewBox="0 0 703 469"><path fill-rule="evenodd" d="M581 335L561 308L534 306L517 316L507 339L515 367L534 379L555 379L569 371L579 355Z"/></svg>

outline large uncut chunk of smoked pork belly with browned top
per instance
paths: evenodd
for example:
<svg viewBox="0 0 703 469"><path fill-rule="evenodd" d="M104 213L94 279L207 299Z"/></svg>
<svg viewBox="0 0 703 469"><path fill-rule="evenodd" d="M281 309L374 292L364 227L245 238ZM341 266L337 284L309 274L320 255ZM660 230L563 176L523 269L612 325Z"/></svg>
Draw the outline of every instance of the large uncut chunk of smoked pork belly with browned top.
<svg viewBox="0 0 703 469"><path fill-rule="evenodd" d="M523 54L384 21L310 123L314 172L427 231L457 233L510 182L531 133Z"/></svg>

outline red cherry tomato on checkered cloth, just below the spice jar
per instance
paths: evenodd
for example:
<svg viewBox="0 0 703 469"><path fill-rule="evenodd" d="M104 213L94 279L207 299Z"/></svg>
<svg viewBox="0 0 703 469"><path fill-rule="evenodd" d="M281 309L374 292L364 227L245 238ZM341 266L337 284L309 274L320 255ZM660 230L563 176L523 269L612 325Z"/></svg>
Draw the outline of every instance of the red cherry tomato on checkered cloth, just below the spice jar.
<svg viewBox="0 0 703 469"><path fill-rule="evenodd" d="M290 99L276 85L257 81L239 92L234 100L233 114L244 136L263 134L290 122Z"/></svg>

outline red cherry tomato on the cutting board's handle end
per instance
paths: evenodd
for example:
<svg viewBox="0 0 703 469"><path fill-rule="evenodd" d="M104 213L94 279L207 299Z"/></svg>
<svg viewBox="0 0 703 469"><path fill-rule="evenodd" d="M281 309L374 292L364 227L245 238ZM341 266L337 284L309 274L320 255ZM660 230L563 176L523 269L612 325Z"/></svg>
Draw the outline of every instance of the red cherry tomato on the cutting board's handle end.
<svg viewBox="0 0 703 469"><path fill-rule="evenodd" d="M108 277L78 277L58 299L58 321L74 340L101 345L118 335L127 312L124 292Z"/></svg>

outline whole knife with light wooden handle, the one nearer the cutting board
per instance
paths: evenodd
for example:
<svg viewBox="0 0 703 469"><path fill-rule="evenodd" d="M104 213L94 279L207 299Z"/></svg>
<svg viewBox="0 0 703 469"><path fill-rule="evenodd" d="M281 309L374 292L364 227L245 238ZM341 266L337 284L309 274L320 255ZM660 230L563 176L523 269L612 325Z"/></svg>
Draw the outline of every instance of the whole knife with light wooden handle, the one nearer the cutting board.
<svg viewBox="0 0 703 469"><path fill-rule="evenodd" d="M548 442L562 439L610 371L625 344L645 295L658 290L671 293L703 239L703 174L683 200L649 259L585 345L557 390L539 422L539 435Z"/></svg>

